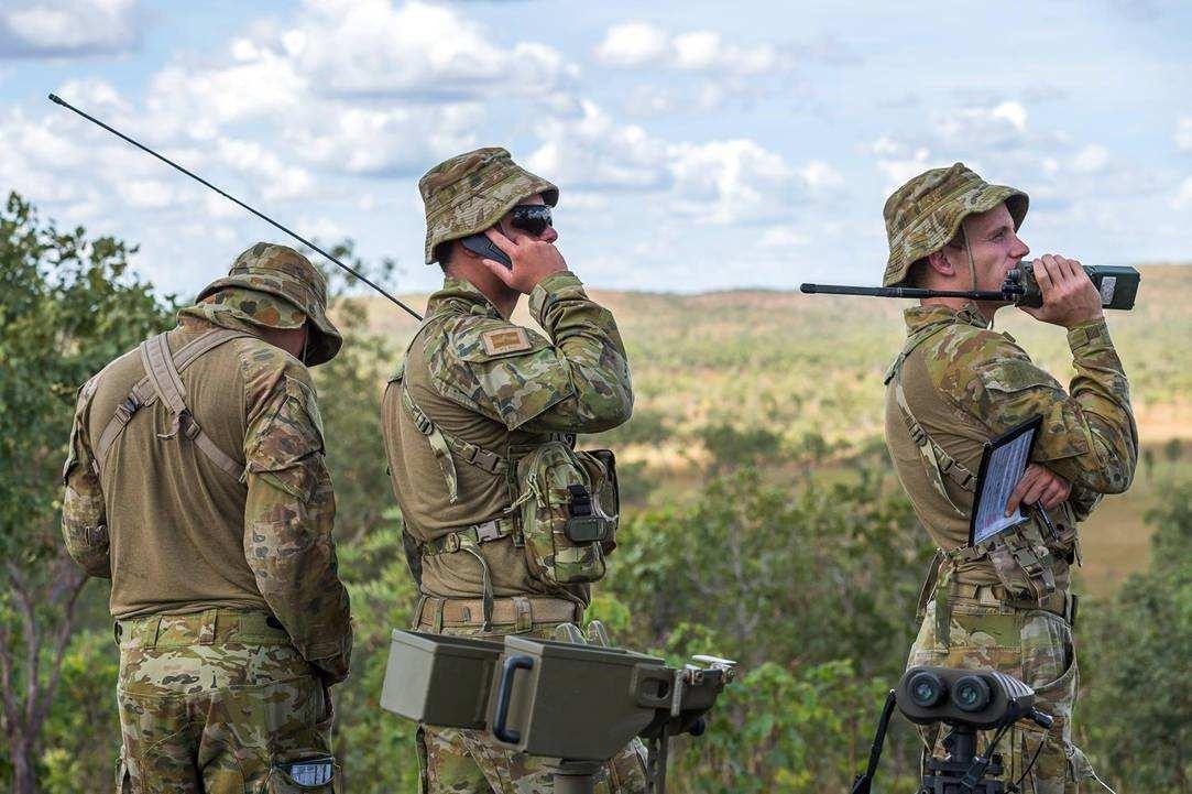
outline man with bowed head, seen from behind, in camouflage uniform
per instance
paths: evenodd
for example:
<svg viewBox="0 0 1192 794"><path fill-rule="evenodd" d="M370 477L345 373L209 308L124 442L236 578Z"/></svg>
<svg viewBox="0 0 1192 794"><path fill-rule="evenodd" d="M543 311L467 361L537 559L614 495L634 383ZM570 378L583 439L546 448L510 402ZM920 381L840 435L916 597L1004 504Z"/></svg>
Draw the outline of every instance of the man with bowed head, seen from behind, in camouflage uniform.
<svg viewBox="0 0 1192 794"><path fill-rule="evenodd" d="M80 389L62 533L112 579L117 792L331 792L352 628L306 370L342 342L325 308L306 258L257 243Z"/></svg>

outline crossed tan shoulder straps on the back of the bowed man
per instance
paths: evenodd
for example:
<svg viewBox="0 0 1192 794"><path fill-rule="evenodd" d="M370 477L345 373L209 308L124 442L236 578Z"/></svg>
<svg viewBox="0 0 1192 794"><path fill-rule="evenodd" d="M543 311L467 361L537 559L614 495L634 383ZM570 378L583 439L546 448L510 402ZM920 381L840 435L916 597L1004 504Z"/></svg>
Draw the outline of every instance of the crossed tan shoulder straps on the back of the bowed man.
<svg viewBox="0 0 1192 794"><path fill-rule="evenodd" d="M216 446L186 404L186 387L179 377L194 361L224 342L234 339L252 336L244 331L217 328L201 336L198 336L178 349L173 355L166 341L166 334L157 334L141 343L137 348L141 354L141 364L144 366L145 377L137 382L129 396L116 408L112 418L107 421L104 430L99 435L95 445L95 464L99 467L105 465L107 453L117 436L124 432L134 414L139 409L153 405L161 401L166 409L174 417L173 428L169 433L159 433L159 439L173 439L179 432L194 442L194 446L205 454L211 463L222 469L229 476L242 479L244 476L244 464L237 461L231 455Z"/></svg>

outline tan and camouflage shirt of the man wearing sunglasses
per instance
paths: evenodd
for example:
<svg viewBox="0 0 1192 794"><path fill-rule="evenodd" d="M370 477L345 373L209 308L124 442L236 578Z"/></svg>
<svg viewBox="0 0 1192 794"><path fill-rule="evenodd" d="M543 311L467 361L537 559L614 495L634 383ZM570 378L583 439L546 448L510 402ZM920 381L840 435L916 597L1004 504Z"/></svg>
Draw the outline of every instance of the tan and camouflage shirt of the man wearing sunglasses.
<svg viewBox="0 0 1192 794"><path fill-rule="evenodd" d="M445 433L501 457L541 443L552 433L598 433L629 417L633 392L625 346L613 315L592 302L570 272L542 279L529 296L533 317L551 339L504 320L465 280L447 278L398 376L412 401ZM513 501L505 476L458 460L458 498L391 380L381 418L393 490L405 532L418 544L499 517ZM496 596L544 593L523 550L508 540L480 546ZM482 594L470 554L423 558L422 591L448 597ZM572 585L588 598L585 585Z"/></svg>

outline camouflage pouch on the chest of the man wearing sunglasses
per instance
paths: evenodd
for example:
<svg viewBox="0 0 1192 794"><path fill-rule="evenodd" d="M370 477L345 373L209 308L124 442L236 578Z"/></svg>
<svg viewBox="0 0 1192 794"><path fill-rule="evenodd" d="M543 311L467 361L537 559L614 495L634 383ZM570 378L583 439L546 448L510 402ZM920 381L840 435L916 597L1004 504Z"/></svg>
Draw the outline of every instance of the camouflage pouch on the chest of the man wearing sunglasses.
<svg viewBox="0 0 1192 794"><path fill-rule="evenodd" d="M603 578L619 505L601 458L547 441L517 461L517 486L530 576L546 584Z"/></svg>

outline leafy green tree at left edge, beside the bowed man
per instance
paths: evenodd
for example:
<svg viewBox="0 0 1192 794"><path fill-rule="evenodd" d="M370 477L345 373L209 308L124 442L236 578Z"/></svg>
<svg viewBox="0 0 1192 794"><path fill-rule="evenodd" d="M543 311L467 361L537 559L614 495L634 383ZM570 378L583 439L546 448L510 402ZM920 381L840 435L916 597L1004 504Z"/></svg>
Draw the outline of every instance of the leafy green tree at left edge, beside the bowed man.
<svg viewBox="0 0 1192 794"><path fill-rule="evenodd" d="M135 249L60 231L15 193L0 212L0 713L12 790L37 790L44 728L85 579L60 540L77 387L169 322Z"/></svg>

